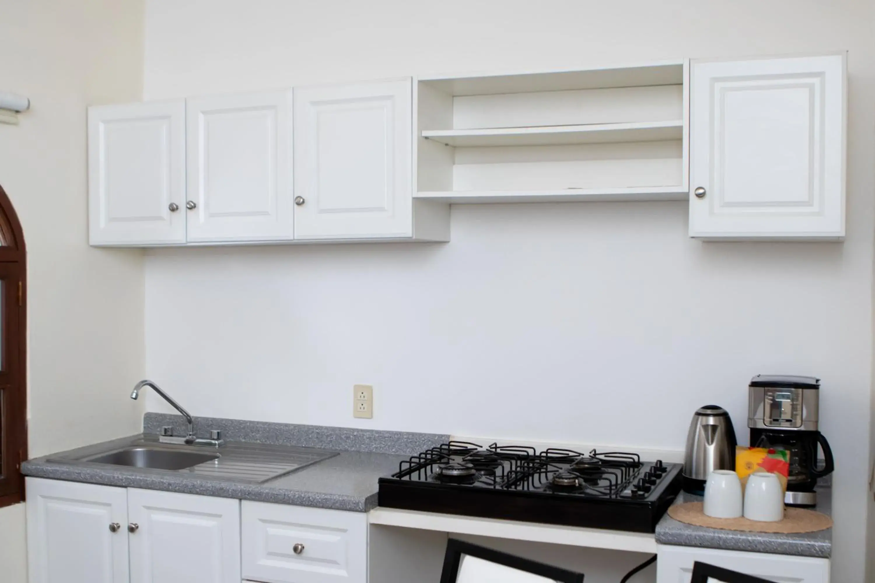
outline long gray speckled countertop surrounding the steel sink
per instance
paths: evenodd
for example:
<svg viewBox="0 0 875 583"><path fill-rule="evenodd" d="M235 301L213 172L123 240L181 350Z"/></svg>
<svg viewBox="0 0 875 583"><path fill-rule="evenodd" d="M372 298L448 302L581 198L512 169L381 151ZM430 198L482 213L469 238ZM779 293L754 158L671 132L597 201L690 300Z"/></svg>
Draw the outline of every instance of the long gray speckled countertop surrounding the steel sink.
<svg viewBox="0 0 875 583"><path fill-rule="evenodd" d="M235 482L227 478L195 475L186 470L130 468L74 461L95 453L130 447L144 440L154 441L158 427L171 425L181 429L183 425L180 421L181 418L176 415L147 413L145 434L29 460L22 464L22 473L72 482L367 512L376 506L379 477L397 471L398 463L409 455L449 439L449 435L439 434L195 418L198 434L218 428L228 441L321 447L332 449L338 455L262 483ZM184 434L179 430L174 433ZM212 451L221 453L221 449Z"/></svg>

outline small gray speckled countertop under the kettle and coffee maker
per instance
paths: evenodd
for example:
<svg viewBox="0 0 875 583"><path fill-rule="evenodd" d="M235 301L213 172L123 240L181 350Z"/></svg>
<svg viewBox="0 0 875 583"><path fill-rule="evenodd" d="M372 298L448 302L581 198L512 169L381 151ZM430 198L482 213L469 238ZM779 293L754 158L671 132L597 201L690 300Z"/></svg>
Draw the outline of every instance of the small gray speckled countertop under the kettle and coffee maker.
<svg viewBox="0 0 875 583"><path fill-rule="evenodd" d="M817 510L831 514L832 492L818 489ZM700 502L702 496L681 492L675 503ZM730 551L771 552L829 559L832 552L832 529L804 534L773 534L767 532L721 531L676 521L666 514L656 524L656 542L661 545L704 546Z"/></svg>

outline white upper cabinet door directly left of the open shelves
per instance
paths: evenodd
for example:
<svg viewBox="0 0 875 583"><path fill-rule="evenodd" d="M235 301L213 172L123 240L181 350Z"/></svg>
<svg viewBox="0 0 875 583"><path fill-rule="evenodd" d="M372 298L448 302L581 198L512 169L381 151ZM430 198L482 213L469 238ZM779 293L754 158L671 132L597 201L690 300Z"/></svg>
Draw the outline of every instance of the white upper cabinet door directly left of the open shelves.
<svg viewBox="0 0 875 583"><path fill-rule="evenodd" d="M295 88L295 239L412 237L410 87Z"/></svg>

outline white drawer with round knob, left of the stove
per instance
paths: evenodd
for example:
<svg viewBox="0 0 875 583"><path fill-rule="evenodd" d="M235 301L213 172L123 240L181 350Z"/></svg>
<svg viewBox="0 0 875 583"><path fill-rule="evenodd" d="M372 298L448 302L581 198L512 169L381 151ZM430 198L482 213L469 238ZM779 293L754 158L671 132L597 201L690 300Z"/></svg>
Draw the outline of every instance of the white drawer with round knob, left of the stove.
<svg viewBox="0 0 875 583"><path fill-rule="evenodd" d="M266 583L366 583L367 514L244 501L242 571Z"/></svg>

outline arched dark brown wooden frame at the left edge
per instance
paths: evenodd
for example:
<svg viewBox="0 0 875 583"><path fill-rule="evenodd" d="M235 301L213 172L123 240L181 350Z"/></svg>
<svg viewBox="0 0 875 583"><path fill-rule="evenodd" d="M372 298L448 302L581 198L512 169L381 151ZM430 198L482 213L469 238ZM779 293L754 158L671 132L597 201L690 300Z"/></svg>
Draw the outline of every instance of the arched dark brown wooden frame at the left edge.
<svg viewBox="0 0 875 583"><path fill-rule="evenodd" d="M27 459L25 233L0 186L0 507L25 499Z"/></svg>

